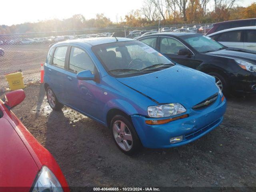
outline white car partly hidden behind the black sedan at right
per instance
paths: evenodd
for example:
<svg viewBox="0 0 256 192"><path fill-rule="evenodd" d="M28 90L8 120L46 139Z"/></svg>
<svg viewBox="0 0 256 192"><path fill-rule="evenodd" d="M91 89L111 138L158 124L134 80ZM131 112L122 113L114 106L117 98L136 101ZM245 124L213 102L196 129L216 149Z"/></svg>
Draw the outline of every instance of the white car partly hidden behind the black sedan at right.
<svg viewBox="0 0 256 192"><path fill-rule="evenodd" d="M256 51L256 26L225 29L208 36L227 47Z"/></svg>

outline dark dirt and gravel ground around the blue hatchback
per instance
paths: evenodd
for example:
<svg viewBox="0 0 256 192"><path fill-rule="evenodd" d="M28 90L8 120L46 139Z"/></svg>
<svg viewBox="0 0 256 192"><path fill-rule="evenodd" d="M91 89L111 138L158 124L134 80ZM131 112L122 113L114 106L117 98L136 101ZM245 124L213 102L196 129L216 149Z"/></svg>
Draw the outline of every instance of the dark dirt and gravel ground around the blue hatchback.
<svg viewBox="0 0 256 192"><path fill-rule="evenodd" d="M72 187L256 186L255 97L229 98L223 123L195 142L127 156L108 128L68 107L52 111L43 85L24 90L26 99L13 111Z"/></svg>

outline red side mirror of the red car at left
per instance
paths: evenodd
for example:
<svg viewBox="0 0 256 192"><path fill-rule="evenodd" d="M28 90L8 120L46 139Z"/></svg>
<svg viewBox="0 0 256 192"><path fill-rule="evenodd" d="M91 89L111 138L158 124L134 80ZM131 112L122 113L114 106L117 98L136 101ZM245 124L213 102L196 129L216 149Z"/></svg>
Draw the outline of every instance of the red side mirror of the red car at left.
<svg viewBox="0 0 256 192"><path fill-rule="evenodd" d="M4 104L6 104L9 108L13 108L14 106L20 104L25 97L26 95L24 90L15 90L5 95Z"/></svg>

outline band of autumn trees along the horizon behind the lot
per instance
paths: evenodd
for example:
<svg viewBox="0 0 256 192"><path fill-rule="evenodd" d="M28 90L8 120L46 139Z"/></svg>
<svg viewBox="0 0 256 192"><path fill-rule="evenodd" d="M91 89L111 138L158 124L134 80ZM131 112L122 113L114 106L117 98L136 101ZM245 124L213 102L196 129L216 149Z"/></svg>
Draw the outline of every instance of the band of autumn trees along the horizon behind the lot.
<svg viewBox="0 0 256 192"><path fill-rule="evenodd" d="M142 27L150 25L200 24L226 20L256 18L256 3L237 6L238 0L144 0L140 10L131 10L124 20L113 23L104 14L86 19L76 14L68 19L52 19L12 26L0 25L0 34L81 30L106 27ZM209 11L208 5L214 5Z"/></svg>

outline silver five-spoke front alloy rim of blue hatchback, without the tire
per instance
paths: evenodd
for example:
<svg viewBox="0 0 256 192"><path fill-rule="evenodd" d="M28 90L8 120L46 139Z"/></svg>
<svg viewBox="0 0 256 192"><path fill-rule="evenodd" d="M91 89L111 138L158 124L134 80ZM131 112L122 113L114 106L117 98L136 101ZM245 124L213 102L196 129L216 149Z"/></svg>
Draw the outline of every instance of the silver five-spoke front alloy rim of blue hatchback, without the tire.
<svg viewBox="0 0 256 192"><path fill-rule="evenodd" d="M128 126L124 122L116 120L113 124L112 131L118 146L125 151L129 151L132 148L133 142Z"/></svg>

